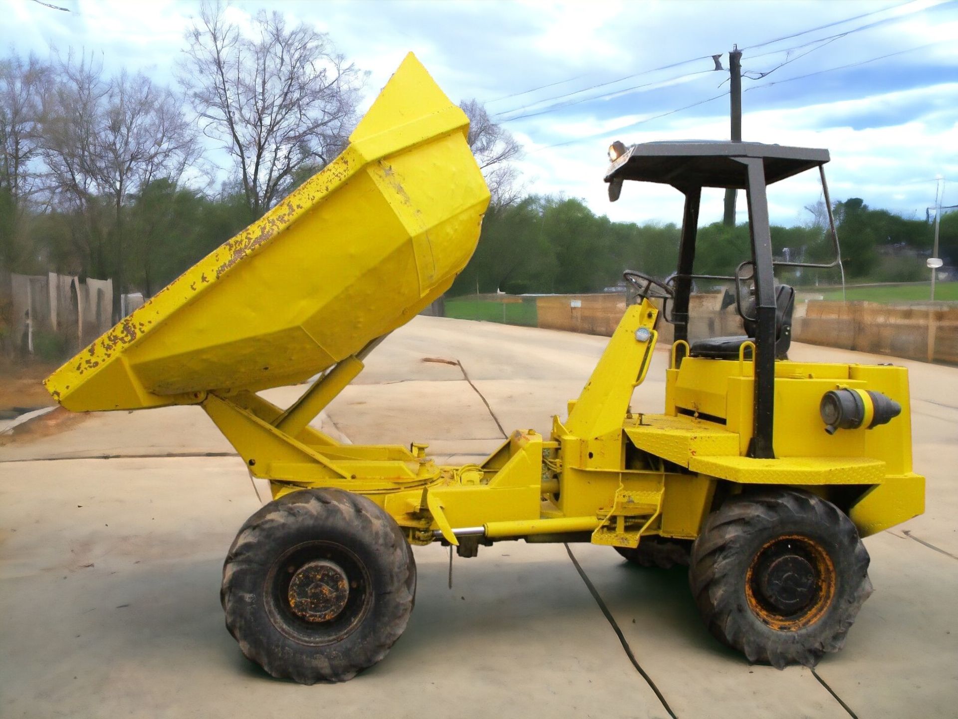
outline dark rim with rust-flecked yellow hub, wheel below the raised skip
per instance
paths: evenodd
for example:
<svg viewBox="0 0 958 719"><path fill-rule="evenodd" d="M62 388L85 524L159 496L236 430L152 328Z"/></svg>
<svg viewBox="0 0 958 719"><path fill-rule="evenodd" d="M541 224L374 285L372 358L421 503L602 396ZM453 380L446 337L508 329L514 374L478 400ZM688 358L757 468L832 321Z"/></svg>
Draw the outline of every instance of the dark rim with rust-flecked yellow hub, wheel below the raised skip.
<svg viewBox="0 0 958 719"><path fill-rule="evenodd" d="M373 604L365 564L335 542L305 542L286 550L266 575L266 614L291 640L321 646L352 634Z"/></svg>

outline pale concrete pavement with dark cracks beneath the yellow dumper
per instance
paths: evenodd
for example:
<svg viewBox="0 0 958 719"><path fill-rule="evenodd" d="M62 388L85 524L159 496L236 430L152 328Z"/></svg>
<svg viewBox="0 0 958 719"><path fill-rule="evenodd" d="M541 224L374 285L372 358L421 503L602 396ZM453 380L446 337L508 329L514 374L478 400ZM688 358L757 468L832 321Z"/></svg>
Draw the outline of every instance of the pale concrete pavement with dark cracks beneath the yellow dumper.
<svg viewBox="0 0 958 719"><path fill-rule="evenodd" d="M547 434L604 344L418 317L376 349L323 427L469 461L502 441L500 427ZM889 361L801 345L791 356ZM634 407L661 411L667 360L656 352ZM572 546L573 562L561 545L501 543L457 558L451 590L446 551L418 548L409 627L352 682L273 680L240 655L218 602L223 556L262 487L199 409L179 407L67 417L0 447L0 713L953 717L958 370L896 363L911 371L927 511L866 540L876 592L845 649L815 671L749 665L722 647L681 569L640 570L588 545Z"/></svg>

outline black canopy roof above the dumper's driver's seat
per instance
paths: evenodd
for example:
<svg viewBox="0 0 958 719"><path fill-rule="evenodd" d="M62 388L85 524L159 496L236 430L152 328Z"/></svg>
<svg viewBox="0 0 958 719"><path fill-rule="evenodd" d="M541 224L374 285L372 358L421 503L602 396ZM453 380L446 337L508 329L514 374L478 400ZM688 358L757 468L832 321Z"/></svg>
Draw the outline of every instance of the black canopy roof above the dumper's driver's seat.
<svg viewBox="0 0 958 719"><path fill-rule="evenodd" d="M747 169L736 157L761 157L765 182L784 180L829 161L827 149L787 147L763 143L709 140L634 145L612 163L605 182L639 180L675 187L734 188L744 190Z"/></svg>

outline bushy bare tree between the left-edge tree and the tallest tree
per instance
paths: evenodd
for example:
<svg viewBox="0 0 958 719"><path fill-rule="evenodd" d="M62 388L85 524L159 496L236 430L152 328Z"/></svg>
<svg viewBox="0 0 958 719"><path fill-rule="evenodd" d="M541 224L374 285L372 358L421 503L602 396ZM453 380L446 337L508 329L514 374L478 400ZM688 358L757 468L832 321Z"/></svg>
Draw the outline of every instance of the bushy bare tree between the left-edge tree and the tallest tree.
<svg viewBox="0 0 958 719"><path fill-rule="evenodd" d="M85 247L87 269L114 279L118 307L133 249L124 226L127 198L159 178L178 183L201 154L199 132L169 88L140 74L106 79L85 54L57 64L42 129L53 201L80 219L74 236Z"/></svg>

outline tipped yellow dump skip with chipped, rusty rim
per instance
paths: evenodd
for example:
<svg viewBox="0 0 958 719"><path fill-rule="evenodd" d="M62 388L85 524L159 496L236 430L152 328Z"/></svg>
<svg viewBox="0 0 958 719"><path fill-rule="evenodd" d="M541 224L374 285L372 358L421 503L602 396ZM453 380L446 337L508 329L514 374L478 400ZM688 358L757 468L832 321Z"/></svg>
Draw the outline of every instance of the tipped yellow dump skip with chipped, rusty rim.
<svg viewBox="0 0 958 719"><path fill-rule="evenodd" d="M468 119L412 54L326 169L47 378L69 410L302 381L404 325L472 256Z"/></svg>

